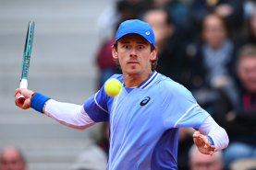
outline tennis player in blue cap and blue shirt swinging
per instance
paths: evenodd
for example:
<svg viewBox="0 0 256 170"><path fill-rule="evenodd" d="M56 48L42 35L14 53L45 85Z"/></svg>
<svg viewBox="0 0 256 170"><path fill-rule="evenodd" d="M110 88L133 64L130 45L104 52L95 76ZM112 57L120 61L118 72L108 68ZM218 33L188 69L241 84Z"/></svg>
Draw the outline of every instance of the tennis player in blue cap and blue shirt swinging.
<svg viewBox="0 0 256 170"><path fill-rule="evenodd" d="M55 101L18 88L19 108L34 108L76 129L109 121L108 170L177 169L178 128L192 127L199 151L213 154L226 148L228 137L188 89L153 70L157 61L154 34L148 23L127 20L116 31L113 58L123 74L121 92L107 96L102 87L82 106ZM25 96L23 105L18 96Z"/></svg>

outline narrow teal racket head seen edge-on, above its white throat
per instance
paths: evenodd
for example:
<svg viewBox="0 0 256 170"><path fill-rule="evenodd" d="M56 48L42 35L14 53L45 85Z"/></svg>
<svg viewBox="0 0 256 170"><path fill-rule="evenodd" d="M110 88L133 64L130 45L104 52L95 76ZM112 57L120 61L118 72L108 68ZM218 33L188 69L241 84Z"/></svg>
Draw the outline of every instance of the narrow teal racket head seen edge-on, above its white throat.
<svg viewBox="0 0 256 170"><path fill-rule="evenodd" d="M31 54L32 42L33 42L33 34L34 34L34 21L30 21L29 26L28 26L28 31L27 31L25 47L24 47L20 80L28 79L29 68L30 68L30 54Z"/></svg>

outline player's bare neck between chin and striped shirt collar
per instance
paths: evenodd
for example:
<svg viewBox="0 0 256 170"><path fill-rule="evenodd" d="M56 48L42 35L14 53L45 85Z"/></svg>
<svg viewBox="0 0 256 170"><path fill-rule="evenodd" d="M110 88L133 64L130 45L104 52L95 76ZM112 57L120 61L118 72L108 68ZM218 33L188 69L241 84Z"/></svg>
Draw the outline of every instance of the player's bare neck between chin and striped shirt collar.
<svg viewBox="0 0 256 170"><path fill-rule="evenodd" d="M151 74L152 74L152 71L147 72L145 74L123 74L124 83L126 87L138 86L142 82L144 82Z"/></svg>

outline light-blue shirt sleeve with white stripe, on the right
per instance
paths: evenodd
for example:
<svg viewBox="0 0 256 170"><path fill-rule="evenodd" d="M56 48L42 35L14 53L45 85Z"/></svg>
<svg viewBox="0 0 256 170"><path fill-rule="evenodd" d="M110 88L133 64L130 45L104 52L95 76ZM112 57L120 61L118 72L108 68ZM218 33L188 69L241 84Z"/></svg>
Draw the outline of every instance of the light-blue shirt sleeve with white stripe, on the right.
<svg viewBox="0 0 256 170"><path fill-rule="evenodd" d="M189 90L176 82L165 82L161 86L162 97L165 97L164 109L165 126L169 128L191 127L199 129L201 123L209 116L202 109Z"/></svg>

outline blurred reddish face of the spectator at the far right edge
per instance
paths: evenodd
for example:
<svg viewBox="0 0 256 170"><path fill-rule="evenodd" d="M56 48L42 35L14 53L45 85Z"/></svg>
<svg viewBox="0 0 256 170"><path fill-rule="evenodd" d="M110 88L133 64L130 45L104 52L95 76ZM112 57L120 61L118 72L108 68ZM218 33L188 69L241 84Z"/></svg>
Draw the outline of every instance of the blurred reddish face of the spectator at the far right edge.
<svg viewBox="0 0 256 170"><path fill-rule="evenodd" d="M240 60L238 64L238 77L244 87L256 93L256 57L248 56Z"/></svg>

